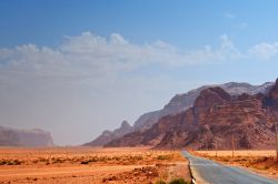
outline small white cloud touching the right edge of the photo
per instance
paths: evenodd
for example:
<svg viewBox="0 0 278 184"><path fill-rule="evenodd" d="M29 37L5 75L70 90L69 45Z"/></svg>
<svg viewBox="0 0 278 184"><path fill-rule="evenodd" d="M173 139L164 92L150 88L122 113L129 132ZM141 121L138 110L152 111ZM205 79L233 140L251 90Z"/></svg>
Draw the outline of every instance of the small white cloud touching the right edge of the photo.
<svg viewBox="0 0 278 184"><path fill-rule="evenodd" d="M260 60L270 60L278 55L278 42L256 44L249 49L249 54Z"/></svg>

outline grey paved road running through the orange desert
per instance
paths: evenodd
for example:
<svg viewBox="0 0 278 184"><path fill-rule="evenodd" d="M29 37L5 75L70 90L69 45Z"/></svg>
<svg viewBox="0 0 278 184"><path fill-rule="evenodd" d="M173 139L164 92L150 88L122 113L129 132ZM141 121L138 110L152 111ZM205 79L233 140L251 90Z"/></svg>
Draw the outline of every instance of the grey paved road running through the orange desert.
<svg viewBox="0 0 278 184"><path fill-rule="evenodd" d="M262 177L235 166L226 166L214 161L193 156L183 151L197 184L278 184L278 181Z"/></svg>

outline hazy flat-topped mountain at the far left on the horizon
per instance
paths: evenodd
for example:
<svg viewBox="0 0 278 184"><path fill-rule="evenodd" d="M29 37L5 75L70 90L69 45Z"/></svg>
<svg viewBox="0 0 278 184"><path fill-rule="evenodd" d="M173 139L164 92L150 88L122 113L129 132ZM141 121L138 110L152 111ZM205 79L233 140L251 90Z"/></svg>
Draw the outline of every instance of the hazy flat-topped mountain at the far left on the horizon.
<svg viewBox="0 0 278 184"><path fill-rule="evenodd" d="M49 132L0 126L0 146L53 146Z"/></svg>

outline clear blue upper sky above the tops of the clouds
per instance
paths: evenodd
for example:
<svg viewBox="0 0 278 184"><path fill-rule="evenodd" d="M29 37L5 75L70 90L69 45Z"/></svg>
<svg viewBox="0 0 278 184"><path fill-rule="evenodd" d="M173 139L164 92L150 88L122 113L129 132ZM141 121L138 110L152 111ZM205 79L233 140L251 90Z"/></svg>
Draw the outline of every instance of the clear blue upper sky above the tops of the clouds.
<svg viewBox="0 0 278 184"><path fill-rule="evenodd" d="M136 43L163 39L191 49L216 44L225 32L245 48L277 39L276 8L275 0L1 1L0 44L56 45L64 35L92 31L105 37L119 32Z"/></svg>

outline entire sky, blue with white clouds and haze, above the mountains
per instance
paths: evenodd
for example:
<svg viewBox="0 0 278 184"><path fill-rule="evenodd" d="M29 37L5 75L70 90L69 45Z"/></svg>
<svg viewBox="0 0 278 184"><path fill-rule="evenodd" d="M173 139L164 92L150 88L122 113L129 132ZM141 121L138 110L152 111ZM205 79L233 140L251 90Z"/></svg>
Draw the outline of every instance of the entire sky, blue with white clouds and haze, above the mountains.
<svg viewBox="0 0 278 184"><path fill-rule="evenodd" d="M1 124L42 127L58 144L80 144L122 120L132 124L176 93L274 81L277 7L275 0L2 0Z"/></svg>

